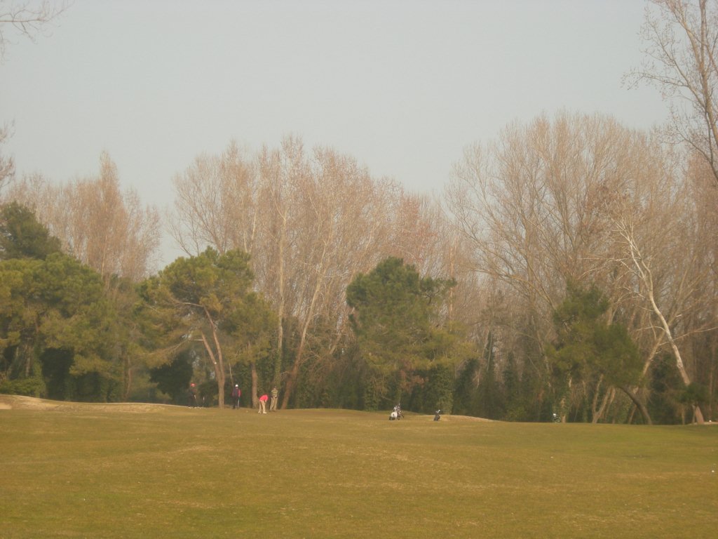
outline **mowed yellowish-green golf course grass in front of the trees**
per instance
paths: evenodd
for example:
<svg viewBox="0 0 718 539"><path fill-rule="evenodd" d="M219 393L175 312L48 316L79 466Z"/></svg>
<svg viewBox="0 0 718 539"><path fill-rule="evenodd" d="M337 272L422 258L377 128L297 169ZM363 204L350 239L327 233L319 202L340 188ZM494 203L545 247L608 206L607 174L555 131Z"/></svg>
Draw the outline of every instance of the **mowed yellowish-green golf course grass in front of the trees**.
<svg viewBox="0 0 718 539"><path fill-rule="evenodd" d="M0 410L4 539L718 533L718 426L45 408Z"/></svg>

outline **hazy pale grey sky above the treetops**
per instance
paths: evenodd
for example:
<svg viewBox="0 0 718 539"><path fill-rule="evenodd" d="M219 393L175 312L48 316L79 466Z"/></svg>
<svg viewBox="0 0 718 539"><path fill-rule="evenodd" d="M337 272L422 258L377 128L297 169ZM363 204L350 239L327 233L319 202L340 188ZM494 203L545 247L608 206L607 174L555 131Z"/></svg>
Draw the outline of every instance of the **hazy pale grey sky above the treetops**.
<svg viewBox="0 0 718 539"><path fill-rule="evenodd" d="M666 119L640 63L643 0L74 0L0 65L17 172L95 175L101 152L146 203L231 140L353 155L440 192L467 144L542 112ZM168 262L168 261L166 261Z"/></svg>

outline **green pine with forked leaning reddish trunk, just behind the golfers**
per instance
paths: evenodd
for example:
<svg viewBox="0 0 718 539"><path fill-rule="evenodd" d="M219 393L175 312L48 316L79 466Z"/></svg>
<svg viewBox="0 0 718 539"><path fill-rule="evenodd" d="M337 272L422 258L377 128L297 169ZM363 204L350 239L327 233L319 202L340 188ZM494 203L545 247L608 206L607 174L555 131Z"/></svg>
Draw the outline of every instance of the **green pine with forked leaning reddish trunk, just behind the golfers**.
<svg viewBox="0 0 718 539"><path fill-rule="evenodd" d="M195 346L209 358L216 387L210 396L217 397L220 407L232 365L251 367L251 395L268 391L256 387L255 367L269 353L274 318L252 290L253 279L248 254L220 254L208 247L196 257L178 258L141 283L139 320L146 327L147 347L162 351L153 367L172 361L179 346Z"/></svg>

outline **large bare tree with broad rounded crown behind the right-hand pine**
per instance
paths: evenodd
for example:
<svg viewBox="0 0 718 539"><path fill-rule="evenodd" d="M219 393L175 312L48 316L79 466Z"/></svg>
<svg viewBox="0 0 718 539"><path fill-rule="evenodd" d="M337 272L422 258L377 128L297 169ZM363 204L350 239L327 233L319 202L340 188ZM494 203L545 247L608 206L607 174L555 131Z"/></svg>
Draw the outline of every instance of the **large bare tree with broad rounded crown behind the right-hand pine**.
<svg viewBox="0 0 718 539"><path fill-rule="evenodd" d="M610 316L619 308L622 315L640 310L626 305L628 270L615 262L605 206L652 160L644 135L610 118L564 113L508 126L497 143L467 149L455 168L447 209L470 245L473 270L489 279L484 286L498 283L512 298L508 314L519 318L500 338L523 343L517 355L536 361L530 365L536 375L549 372L543 350L567 282L600 285L612 301ZM500 317L487 318L493 320ZM586 392L571 379L567 387L567 398ZM593 394L600 392L605 397L610 388L598 379ZM601 408L595 405L597 414Z"/></svg>

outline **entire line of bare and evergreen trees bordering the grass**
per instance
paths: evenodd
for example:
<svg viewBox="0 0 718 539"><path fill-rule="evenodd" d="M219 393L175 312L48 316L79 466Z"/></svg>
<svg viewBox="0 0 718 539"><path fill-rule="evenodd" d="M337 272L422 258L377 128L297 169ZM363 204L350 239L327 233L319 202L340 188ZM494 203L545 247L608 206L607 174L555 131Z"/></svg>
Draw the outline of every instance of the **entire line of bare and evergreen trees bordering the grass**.
<svg viewBox="0 0 718 539"><path fill-rule="evenodd" d="M0 391L184 402L195 381L218 405L240 383L282 408L712 419L718 4L652 4L654 63L631 76L690 103L667 129L510 124L440 199L299 137L232 142L174 178L187 256L154 275L162 220L109 155L66 185L6 159Z"/></svg>

